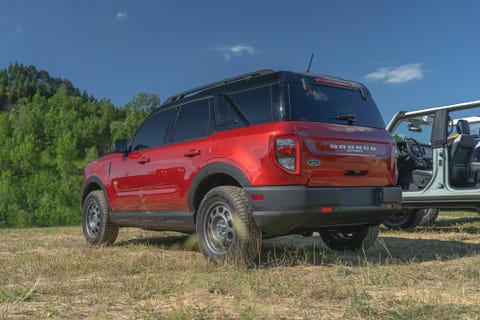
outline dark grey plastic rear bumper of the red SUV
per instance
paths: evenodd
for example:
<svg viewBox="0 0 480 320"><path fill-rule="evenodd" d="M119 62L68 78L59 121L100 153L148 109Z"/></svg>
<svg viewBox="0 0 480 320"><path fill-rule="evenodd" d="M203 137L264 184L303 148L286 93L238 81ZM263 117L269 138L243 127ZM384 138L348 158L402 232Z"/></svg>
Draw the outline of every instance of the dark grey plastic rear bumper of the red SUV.
<svg viewBox="0 0 480 320"><path fill-rule="evenodd" d="M400 187L245 187L253 217L266 235L379 225L401 207ZM252 195L262 194L254 201Z"/></svg>

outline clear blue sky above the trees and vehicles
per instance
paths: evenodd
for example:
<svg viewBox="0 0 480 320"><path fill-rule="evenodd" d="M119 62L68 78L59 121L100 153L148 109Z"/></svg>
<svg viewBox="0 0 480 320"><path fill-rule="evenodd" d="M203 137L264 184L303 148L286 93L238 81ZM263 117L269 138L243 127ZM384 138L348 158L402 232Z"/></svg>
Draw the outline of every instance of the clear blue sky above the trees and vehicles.
<svg viewBox="0 0 480 320"><path fill-rule="evenodd" d="M478 1L0 0L18 61L121 106L257 69L312 71L399 110L480 99Z"/></svg>

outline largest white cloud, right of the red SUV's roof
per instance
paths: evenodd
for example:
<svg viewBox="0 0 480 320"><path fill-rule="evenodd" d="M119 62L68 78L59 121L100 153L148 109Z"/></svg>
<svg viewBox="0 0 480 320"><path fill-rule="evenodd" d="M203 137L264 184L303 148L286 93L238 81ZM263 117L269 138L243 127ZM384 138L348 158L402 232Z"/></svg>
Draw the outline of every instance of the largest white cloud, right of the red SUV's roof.
<svg viewBox="0 0 480 320"><path fill-rule="evenodd" d="M424 74L422 66L421 63L411 63L397 68L383 67L365 75L363 78L368 81L382 81L393 84L420 80Z"/></svg>

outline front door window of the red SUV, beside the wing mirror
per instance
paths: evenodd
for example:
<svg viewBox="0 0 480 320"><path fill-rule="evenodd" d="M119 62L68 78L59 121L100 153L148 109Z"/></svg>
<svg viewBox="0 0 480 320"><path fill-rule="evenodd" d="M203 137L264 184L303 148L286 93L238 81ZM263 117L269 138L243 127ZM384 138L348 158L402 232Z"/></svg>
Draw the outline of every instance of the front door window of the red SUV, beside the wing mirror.
<svg viewBox="0 0 480 320"><path fill-rule="evenodd" d="M155 148L165 144L168 122L172 112L172 109L157 112L145 119L132 138L130 150Z"/></svg>

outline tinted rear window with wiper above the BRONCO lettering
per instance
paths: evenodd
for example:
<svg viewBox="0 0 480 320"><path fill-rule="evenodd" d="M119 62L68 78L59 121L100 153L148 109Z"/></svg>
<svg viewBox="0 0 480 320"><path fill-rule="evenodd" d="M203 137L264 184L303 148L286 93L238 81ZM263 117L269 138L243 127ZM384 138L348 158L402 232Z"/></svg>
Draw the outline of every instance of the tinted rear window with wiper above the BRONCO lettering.
<svg viewBox="0 0 480 320"><path fill-rule="evenodd" d="M290 84L290 119L351 124L385 128L385 122L370 95L362 99L358 90L310 85L305 92L301 84Z"/></svg>

